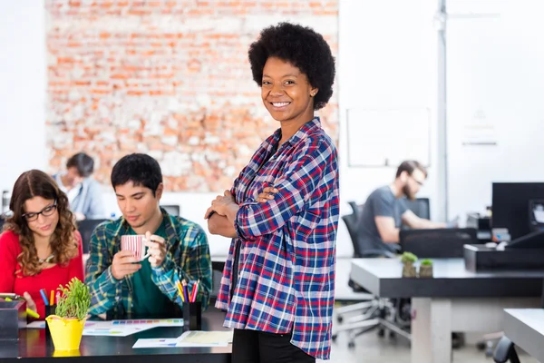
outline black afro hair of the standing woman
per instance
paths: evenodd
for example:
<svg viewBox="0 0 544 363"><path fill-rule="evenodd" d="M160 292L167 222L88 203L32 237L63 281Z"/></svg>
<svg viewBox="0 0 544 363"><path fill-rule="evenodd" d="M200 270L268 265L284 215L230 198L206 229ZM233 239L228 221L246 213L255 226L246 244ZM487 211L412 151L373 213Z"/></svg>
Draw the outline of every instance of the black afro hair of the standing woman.
<svg viewBox="0 0 544 363"><path fill-rule="evenodd" d="M269 26L249 46L248 57L253 80L259 87L267 59L276 57L295 65L306 74L312 87L319 89L314 97L314 110L325 107L333 95L335 58L323 36L312 28L290 23Z"/></svg>

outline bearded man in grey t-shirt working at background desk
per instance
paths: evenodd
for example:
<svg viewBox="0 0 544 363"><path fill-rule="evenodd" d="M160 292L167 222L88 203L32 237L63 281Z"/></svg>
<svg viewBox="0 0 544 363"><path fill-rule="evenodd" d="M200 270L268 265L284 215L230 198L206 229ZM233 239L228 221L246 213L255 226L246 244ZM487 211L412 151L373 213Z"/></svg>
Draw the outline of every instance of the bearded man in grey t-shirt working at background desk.
<svg viewBox="0 0 544 363"><path fill-rule="evenodd" d="M392 244L399 242L401 225L413 229L445 228L445 223L435 223L416 216L403 199L415 200L415 195L427 179L425 167L415 161L401 163L392 184L373 191L361 214L359 233L366 246L377 250L395 252Z"/></svg>

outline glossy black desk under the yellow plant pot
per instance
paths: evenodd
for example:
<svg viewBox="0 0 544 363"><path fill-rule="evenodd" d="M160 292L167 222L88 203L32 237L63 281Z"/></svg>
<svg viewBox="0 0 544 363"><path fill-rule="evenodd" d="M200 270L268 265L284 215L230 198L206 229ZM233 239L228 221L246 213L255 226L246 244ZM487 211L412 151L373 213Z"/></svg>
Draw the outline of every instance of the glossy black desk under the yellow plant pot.
<svg viewBox="0 0 544 363"><path fill-rule="evenodd" d="M202 315L202 329L226 330L222 327L225 314L218 309L209 308ZM160 362L207 362L229 363L231 345L220 348L138 348L132 346L139 338L177 338L183 333L181 327L154 328L128 337L83 337L80 346L81 357L70 357L70 362L100 363L151 363ZM20 358L18 358L20 357ZM34 362L35 358L53 357L53 342L45 341L44 329L23 329L19 341L0 345L0 361Z"/></svg>

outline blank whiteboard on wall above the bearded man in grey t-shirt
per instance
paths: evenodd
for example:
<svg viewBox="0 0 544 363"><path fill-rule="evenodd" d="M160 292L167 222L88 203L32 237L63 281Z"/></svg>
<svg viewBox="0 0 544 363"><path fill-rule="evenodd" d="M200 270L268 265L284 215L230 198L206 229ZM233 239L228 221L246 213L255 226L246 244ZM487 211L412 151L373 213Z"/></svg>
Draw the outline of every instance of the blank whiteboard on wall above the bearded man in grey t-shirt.
<svg viewBox="0 0 544 363"><path fill-rule="evenodd" d="M397 167L404 160L431 163L431 110L424 107L347 110L350 167Z"/></svg>

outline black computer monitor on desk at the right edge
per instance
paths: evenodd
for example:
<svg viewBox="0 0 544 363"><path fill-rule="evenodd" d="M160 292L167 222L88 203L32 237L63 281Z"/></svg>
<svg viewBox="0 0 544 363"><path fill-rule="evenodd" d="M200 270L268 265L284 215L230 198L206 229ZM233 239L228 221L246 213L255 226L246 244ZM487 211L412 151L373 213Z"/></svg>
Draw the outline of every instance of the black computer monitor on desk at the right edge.
<svg viewBox="0 0 544 363"><path fill-rule="evenodd" d="M528 235L534 231L530 227L534 200L544 200L544 182L494 182L491 227L508 229L510 240Z"/></svg>

